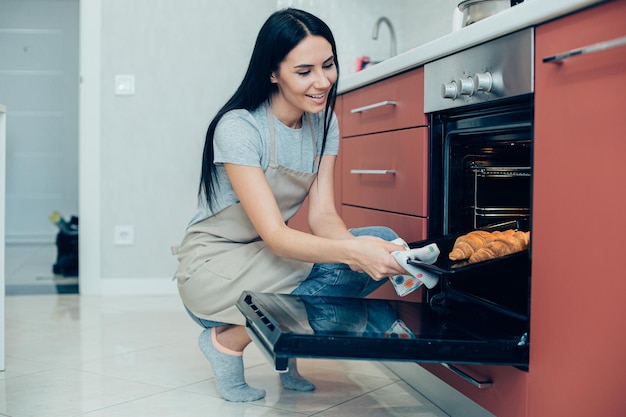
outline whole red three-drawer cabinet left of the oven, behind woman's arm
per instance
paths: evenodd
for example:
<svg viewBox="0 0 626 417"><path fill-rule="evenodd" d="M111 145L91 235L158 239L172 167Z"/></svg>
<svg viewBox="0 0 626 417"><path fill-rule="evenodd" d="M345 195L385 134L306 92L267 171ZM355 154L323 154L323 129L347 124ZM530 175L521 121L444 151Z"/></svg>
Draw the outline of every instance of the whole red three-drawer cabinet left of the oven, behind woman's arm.
<svg viewBox="0 0 626 417"><path fill-rule="evenodd" d="M387 226L407 242L426 239L428 130L424 69L350 91L341 119L342 218L349 228ZM398 298L382 286L371 297ZM419 301L415 291L405 300Z"/></svg>

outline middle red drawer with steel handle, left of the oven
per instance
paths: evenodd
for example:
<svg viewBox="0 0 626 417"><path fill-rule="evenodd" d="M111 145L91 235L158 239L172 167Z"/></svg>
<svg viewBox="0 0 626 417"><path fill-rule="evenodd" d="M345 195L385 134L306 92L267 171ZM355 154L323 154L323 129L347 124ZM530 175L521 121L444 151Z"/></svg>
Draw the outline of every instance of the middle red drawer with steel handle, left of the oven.
<svg viewBox="0 0 626 417"><path fill-rule="evenodd" d="M428 131L407 129L342 140L342 202L426 217Z"/></svg>

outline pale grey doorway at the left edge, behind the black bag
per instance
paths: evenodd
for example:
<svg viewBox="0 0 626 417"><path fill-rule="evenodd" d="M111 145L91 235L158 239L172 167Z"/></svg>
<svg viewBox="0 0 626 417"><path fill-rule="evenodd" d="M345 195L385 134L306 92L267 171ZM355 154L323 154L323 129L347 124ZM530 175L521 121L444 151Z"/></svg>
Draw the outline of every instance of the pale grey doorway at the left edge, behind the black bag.
<svg viewBox="0 0 626 417"><path fill-rule="evenodd" d="M6 291L78 292L57 264L78 215L79 0L0 0L0 102L7 107Z"/></svg>

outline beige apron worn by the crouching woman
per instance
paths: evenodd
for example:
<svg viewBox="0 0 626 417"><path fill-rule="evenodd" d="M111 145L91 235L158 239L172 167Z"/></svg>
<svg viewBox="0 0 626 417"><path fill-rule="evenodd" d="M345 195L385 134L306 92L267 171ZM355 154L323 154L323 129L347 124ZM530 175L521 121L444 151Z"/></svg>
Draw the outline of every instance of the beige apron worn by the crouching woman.
<svg viewBox="0 0 626 417"><path fill-rule="evenodd" d="M270 163L265 177L287 221L300 208L316 173L296 171L276 163L274 116L266 106L270 130ZM311 120L307 122L315 135ZM314 169L315 171L315 169ZM244 324L235 306L242 291L290 293L311 272L313 264L274 255L261 240L241 203L187 229L178 258L178 291L183 303L196 316L224 323Z"/></svg>

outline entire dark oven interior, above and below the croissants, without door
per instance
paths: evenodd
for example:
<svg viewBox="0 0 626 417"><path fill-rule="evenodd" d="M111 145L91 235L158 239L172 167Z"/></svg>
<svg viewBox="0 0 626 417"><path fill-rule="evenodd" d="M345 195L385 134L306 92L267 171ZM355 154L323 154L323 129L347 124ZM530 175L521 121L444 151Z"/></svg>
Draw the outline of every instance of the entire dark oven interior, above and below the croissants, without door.
<svg viewBox="0 0 626 417"><path fill-rule="evenodd" d="M430 115L430 240L441 250L434 305L478 303L530 315L530 251L472 267L447 260L454 240L476 229L529 231L532 223L532 94ZM435 153L435 152L433 152ZM532 235L531 235L532 239ZM437 266L437 265L435 265Z"/></svg>

